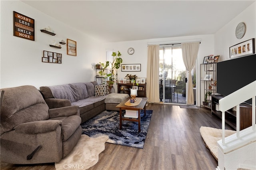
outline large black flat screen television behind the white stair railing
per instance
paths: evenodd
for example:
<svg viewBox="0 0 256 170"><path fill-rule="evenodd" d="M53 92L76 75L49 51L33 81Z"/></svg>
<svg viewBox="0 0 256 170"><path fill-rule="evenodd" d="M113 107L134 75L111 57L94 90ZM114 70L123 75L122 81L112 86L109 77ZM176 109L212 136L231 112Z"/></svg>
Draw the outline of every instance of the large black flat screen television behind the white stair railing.
<svg viewBox="0 0 256 170"><path fill-rule="evenodd" d="M256 54L217 63L217 93L230 93L256 80ZM245 103L252 104L252 99Z"/></svg>

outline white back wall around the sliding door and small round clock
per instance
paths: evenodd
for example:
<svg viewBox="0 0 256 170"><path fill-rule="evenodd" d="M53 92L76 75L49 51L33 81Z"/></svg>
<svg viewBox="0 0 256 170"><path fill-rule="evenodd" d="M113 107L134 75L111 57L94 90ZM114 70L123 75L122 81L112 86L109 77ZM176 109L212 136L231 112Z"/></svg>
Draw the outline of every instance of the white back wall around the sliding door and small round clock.
<svg viewBox="0 0 256 170"><path fill-rule="evenodd" d="M205 56L214 54L214 35L198 35L198 36L184 36L184 37L174 37L174 38L158 38L149 40L138 40L138 41L128 41L128 42L113 42L104 43L102 45L102 54L108 50L120 51L122 53L122 64L141 64L141 71L138 72L124 72L118 69L118 78L123 78L126 74L136 74L138 77L146 77L147 74L147 57L148 57L148 43L177 43L177 42L191 42L193 40L201 40L199 51L198 51L198 76L197 76L197 87L200 87L200 64L203 62ZM129 55L127 49L129 47L134 48L134 54ZM104 51L104 52L103 52ZM116 88L115 88L116 89ZM197 93L198 105L200 105L200 91Z"/></svg>

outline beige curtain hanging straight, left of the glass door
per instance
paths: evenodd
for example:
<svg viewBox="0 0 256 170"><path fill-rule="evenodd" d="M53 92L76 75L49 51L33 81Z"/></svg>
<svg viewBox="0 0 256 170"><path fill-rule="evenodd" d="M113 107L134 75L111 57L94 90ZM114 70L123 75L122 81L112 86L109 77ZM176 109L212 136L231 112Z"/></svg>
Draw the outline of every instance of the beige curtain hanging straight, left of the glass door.
<svg viewBox="0 0 256 170"><path fill-rule="evenodd" d="M148 45L147 97L149 103L159 103L159 45Z"/></svg>

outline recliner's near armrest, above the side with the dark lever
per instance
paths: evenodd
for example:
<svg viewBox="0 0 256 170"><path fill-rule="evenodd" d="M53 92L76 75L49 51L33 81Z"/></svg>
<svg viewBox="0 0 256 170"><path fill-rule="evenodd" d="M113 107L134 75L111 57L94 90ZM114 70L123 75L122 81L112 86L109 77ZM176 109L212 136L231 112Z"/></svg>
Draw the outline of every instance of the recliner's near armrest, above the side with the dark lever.
<svg viewBox="0 0 256 170"><path fill-rule="evenodd" d="M54 131L61 125L62 121L60 120L35 121L17 125L14 130L24 134L40 134Z"/></svg>

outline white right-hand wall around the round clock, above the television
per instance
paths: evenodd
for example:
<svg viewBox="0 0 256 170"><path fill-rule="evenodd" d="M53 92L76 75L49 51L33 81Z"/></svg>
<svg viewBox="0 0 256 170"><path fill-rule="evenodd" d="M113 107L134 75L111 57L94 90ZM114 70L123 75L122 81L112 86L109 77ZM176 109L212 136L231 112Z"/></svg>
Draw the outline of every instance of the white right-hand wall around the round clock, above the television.
<svg viewBox="0 0 256 170"><path fill-rule="evenodd" d="M214 34L214 53L219 54L219 61L229 59L229 47L246 40L256 38L256 2L250 5L246 10L240 13L236 18L231 20L216 34ZM241 39L236 38L236 26L244 22L246 25L246 33Z"/></svg>

